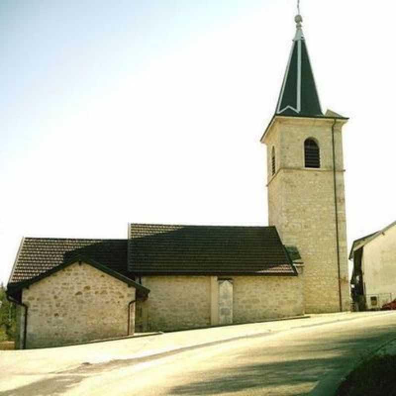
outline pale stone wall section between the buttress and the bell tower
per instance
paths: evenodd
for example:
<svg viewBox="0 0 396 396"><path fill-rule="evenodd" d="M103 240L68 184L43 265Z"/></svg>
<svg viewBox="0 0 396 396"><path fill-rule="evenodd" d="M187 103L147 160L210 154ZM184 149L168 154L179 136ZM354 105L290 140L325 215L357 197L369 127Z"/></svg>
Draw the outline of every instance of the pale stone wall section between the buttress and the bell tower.
<svg viewBox="0 0 396 396"><path fill-rule="evenodd" d="M235 276L234 323L304 314L302 276Z"/></svg>

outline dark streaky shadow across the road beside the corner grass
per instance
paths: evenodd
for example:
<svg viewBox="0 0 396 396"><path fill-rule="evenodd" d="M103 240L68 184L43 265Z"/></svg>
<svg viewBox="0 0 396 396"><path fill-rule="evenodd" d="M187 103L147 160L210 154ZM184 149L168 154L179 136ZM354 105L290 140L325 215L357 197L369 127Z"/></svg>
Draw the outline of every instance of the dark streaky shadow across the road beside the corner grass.
<svg viewBox="0 0 396 396"><path fill-rule="evenodd" d="M296 340L282 347L272 347L268 341L262 347L255 344L257 347L253 351L236 351L230 360L238 361L238 364L223 366L215 371L202 370L199 374L195 372L194 377L202 380L175 386L169 394L221 395L241 391L250 394L265 389L268 394L298 396L306 395L307 389L316 389L322 381L330 388L335 387L332 389L334 393L338 380L342 380L348 369L370 350L395 338L395 335L390 335L391 329L394 330L394 327L381 326L347 341L340 339L350 328L313 340ZM273 357L273 362L268 362L271 360L268 356ZM332 392L324 394L332 395Z"/></svg>

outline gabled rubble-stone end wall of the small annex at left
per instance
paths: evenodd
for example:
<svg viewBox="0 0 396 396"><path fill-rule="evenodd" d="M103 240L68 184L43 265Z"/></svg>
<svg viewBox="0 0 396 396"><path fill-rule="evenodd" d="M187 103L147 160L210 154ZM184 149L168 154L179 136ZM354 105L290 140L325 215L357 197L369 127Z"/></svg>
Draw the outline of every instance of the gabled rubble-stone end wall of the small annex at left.
<svg viewBox="0 0 396 396"><path fill-rule="evenodd" d="M126 283L89 264L71 264L23 290L29 307L26 347L126 336L133 299L135 289Z"/></svg>

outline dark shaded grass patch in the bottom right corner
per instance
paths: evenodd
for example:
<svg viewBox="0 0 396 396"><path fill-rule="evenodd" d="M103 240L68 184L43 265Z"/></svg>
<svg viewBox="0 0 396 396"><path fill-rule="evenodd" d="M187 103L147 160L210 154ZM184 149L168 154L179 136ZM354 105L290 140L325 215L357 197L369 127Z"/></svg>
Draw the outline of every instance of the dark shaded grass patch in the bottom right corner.
<svg viewBox="0 0 396 396"><path fill-rule="evenodd" d="M336 396L396 396L396 356L364 359L344 380Z"/></svg>

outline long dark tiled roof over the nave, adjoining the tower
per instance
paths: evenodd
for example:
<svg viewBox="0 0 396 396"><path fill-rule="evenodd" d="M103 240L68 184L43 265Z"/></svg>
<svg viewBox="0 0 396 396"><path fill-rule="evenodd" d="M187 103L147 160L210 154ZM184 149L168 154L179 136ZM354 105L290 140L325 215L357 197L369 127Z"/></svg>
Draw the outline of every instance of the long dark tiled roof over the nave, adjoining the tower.
<svg viewBox="0 0 396 396"><path fill-rule="evenodd" d="M129 233L136 275L297 275L275 227L131 224Z"/></svg>

